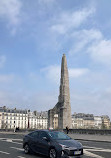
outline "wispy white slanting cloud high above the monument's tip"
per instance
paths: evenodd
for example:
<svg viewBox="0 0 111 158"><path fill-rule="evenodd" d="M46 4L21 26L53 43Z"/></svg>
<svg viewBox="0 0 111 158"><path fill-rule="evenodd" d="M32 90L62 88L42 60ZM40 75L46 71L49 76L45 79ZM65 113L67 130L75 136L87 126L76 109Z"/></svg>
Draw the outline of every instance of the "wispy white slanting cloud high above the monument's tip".
<svg viewBox="0 0 111 158"><path fill-rule="evenodd" d="M59 34L65 34L71 29L78 28L94 11L94 9L83 9L74 12L64 12L56 17L51 30Z"/></svg>

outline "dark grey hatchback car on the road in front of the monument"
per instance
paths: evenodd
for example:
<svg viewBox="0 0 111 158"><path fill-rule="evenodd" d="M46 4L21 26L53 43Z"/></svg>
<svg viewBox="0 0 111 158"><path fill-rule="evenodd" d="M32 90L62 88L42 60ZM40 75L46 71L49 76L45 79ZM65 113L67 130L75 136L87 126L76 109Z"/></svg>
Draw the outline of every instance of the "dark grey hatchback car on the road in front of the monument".
<svg viewBox="0 0 111 158"><path fill-rule="evenodd" d="M33 151L49 158L75 157L83 155L83 146L60 131L36 130L23 138L26 154Z"/></svg>

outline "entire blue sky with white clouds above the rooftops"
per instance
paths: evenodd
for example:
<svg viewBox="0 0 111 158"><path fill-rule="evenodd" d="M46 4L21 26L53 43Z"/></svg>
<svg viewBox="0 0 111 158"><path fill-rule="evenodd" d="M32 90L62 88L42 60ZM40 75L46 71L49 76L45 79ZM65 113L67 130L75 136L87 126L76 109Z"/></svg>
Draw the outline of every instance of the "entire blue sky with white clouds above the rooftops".
<svg viewBox="0 0 111 158"><path fill-rule="evenodd" d="M110 0L0 0L0 106L53 108L65 53L72 113L111 118L110 6Z"/></svg>

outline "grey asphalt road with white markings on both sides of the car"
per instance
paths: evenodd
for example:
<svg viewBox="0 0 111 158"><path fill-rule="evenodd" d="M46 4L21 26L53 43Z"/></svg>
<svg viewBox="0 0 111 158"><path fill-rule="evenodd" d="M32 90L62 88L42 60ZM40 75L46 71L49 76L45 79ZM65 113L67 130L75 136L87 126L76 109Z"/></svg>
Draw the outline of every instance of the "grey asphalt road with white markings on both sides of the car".
<svg viewBox="0 0 111 158"><path fill-rule="evenodd" d="M0 133L0 158L45 158L37 154L24 154L23 135ZM111 143L80 141L84 146L84 155L80 158L111 158Z"/></svg>

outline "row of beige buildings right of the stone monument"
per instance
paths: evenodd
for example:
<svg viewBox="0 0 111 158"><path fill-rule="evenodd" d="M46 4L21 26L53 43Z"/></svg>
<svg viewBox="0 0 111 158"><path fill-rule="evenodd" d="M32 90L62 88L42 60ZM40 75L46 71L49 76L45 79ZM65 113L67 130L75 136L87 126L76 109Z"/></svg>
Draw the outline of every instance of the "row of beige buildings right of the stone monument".
<svg viewBox="0 0 111 158"><path fill-rule="evenodd" d="M110 118L107 115L94 116L93 114L74 113L72 115L72 128L109 129Z"/></svg>

